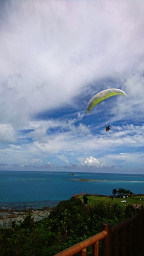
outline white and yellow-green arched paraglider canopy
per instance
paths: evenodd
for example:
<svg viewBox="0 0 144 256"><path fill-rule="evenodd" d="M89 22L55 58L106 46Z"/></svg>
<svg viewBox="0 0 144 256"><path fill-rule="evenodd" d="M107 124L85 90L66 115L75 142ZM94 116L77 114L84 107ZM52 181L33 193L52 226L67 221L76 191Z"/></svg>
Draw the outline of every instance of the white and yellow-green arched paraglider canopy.
<svg viewBox="0 0 144 256"><path fill-rule="evenodd" d="M99 102L104 101L104 99L115 95L125 95L127 97L125 91L122 91L120 89L107 89L104 91L100 91L100 93L95 94L94 97L91 98L90 101L87 103L86 113L89 114L91 109L93 109L93 107Z"/></svg>

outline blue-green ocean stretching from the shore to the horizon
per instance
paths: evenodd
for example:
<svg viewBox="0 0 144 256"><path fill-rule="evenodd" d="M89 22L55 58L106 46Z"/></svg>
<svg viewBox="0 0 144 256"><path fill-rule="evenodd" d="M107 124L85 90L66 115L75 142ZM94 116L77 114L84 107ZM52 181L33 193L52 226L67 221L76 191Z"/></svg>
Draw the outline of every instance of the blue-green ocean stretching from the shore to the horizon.
<svg viewBox="0 0 144 256"><path fill-rule="evenodd" d="M0 209L53 207L83 191L112 195L113 189L119 188L130 190L134 194L144 194L144 175L0 171Z"/></svg>

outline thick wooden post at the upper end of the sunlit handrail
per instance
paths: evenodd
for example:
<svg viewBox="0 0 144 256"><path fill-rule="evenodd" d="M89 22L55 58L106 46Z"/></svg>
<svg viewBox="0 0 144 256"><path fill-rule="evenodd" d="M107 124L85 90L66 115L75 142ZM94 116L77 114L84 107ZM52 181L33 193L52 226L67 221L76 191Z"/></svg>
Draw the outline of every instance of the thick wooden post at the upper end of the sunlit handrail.
<svg viewBox="0 0 144 256"><path fill-rule="evenodd" d="M103 256L111 256L111 224L102 223L103 231L106 231L107 235L102 241Z"/></svg>

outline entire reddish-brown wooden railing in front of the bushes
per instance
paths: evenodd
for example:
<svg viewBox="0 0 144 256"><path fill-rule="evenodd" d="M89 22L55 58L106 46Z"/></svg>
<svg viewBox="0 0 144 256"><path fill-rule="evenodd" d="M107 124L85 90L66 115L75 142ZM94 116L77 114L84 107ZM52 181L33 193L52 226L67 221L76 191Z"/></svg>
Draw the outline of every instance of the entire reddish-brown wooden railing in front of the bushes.
<svg viewBox="0 0 144 256"><path fill-rule="evenodd" d="M103 223L103 231L77 243L77 245L55 254L55 256L87 255L87 248L91 247L89 255L99 256L99 242L102 241L102 256L143 256L144 249L144 211L137 210L137 214L118 225L111 226Z"/></svg>

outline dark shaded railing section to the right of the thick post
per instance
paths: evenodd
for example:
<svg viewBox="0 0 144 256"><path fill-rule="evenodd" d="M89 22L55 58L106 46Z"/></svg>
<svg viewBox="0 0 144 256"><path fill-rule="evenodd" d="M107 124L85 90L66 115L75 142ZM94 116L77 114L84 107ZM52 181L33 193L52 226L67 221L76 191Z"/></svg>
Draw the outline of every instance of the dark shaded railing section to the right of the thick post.
<svg viewBox="0 0 144 256"><path fill-rule="evenodd" d="M115 256L119 255L119 250L121 251L120 255L123 256L126 256L127 253L135 256L143 255L143 213L144 211L142 209L137 209L135 216L112 227L111 240L113 239L113 254ZM120 244L121 249L119 247ZM111 254L109 254L109 256L111 256Z"/></svg>

